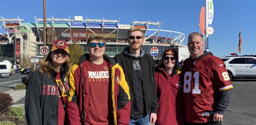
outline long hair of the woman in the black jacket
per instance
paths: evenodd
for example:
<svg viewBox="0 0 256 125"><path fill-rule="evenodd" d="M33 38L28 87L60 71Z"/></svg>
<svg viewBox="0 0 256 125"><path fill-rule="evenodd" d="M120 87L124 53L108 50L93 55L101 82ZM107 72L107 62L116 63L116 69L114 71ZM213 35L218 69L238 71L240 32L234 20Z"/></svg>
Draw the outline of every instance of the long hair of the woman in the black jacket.
<svg viewBox="0 0 256 125"><path fill-rule="evenodd" d="M39 67L39 73L41 73L41 74L47 73L49 77L52 75L51 74L52 70L57 72L56 69L51 64L51 62L52 62L51 53L52 52L49 52L48 55L45 56L44 59L42 59L42 64ZM64 65L66 65L66 67L68 67L68 69L67 69L67 71L65 73L65 76L68 76L69 75L69 71L72 68L72 56L70 54L68 54L68 58L64 62ZM63 66L63 64L62 64L62 66Z"/></svg>

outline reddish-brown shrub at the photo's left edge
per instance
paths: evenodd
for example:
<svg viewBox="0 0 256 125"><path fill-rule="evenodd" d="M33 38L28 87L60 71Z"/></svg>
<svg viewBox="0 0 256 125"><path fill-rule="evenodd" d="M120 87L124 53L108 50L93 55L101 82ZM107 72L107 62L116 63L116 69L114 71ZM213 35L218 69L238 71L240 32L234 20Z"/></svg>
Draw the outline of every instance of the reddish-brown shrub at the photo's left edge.
<svg viewBox="0 0 256 125"><path fill-rule="evenodd" d="M0 114L6 115L9 107L13 104L13 99L8 93L0 92Z"/></svg>

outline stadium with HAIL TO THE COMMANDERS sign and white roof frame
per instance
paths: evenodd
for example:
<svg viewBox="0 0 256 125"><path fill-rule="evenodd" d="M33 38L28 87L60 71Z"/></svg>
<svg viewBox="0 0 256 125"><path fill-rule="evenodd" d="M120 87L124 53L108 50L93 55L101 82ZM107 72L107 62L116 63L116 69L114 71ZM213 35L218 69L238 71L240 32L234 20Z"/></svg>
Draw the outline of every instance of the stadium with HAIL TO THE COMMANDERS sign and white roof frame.
<svg viewBox="0 0 256 125"><path fill-rule="evenodd" d="M35 22L24 22L19 17L16 19L6 19L1 17L0 22L3 22L2 28L11 29L24 27L25 29L31 29L31 32L36 36L37 51L40 46L43 46L44 37L44 19L36 18ZM69 18L47 18L46 24L48 28L48 44L51 44L54 40L65 40L69 44L72 41L77 41L80 45L86 44L87 38L92 34L98 34L106 40L106 54L114 56L121 52L124 47L129 46L126 42L127 29L131 27L139 27L144 31L145 41L142 48L145 52L150 51L152 47L158 47L159 53L163 52L167 48L179 48L185 47L183 41L185 40L185 34L175 32L172 30L162 29L162 22L150 22L150 21L135 21L131 24L119 24L118 20L109 19L82 19L81 16L75 16L75 19ZM7 35L0 34L2 39L11 43L12 37L17 33L6 33ZM26 34L26 33L23 33ZM119 49L118 46L123 45ZM108 51L108 48L110 49ZM186 48L186 47L185 47ZM85 51L86 45L84 48ZM37 52L38 53L38 52ZM147 52L148 53L148 52ZM149 53L150 54L150 53ZM160 54L159 54L160 55ZM156 57L160 57L160 56ZM39 54L38 54L39 56Z"/></svg>

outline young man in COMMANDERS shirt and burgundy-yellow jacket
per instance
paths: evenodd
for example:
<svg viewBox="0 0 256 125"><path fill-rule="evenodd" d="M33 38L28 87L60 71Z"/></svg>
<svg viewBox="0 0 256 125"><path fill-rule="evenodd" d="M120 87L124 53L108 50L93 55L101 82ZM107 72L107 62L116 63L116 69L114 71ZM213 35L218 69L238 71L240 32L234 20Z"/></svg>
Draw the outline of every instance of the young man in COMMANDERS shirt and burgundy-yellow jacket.
<svg viewBox="0 0 256 125"><path fill-rule="evenodd" d="M129 124L129 86L122 68L104 54L105 40L92 35L89 54L79 58L70 71L69 124Z"/></svg>

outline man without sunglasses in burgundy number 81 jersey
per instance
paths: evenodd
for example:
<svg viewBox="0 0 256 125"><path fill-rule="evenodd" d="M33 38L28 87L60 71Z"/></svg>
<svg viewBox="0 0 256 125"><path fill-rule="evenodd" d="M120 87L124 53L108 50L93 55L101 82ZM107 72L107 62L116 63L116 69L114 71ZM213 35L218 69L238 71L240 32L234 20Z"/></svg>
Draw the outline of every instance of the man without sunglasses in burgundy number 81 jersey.
<svg viewBox="0 0 256 125"><path fill-rule="evenodd" d="M231 81L224 62L203 51L203 36L188 36L190 57L184 61L186 124L221 124L231 95Z"/></svg>

